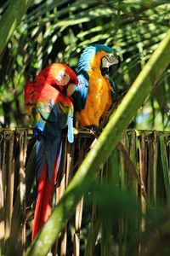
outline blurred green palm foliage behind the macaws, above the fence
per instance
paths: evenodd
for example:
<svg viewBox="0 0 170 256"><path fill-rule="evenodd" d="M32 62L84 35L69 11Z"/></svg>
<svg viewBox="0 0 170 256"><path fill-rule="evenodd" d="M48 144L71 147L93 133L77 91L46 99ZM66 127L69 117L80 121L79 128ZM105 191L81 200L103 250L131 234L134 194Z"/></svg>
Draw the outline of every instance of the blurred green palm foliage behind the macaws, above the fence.
<svg viewBox="0 0 170 256"><path fill-rule="evenodd" d="M3 15L10 1L1 1ZM170 25L167 0L35 0L0 55L0 124L27 126L26 80L52 62L77 66L88 44L107 44L122 65L114 80L120 94L131 86ZM170 68L146 99L131 127L167 130Z"/></svg>

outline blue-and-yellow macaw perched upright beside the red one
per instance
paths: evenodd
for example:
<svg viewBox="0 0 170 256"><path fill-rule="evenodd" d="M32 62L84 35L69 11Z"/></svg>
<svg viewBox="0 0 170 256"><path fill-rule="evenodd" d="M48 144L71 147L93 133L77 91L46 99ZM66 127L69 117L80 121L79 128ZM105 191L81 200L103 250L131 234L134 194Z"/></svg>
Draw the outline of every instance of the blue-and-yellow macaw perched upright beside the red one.
<svg viewBox="0 0 170 256"><path fill-rule="evenodd" d="M110 74L119 63L114 49L93 44L82 52L77 66L79 84L73 94L76 126L99 126L117 99Z"/></svg>

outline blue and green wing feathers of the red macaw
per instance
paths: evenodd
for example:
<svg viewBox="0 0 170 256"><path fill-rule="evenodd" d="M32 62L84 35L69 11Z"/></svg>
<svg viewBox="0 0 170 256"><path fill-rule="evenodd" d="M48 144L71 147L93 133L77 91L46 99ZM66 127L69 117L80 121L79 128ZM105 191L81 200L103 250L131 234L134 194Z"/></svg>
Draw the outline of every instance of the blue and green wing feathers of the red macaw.
<svg viewBox="0 0 170 256"><path fill-rule="evenodd" d="M32 108L34 134L37 136L37 178L41 176L44 166L48 166L48 177L53 177L54 163L61 144L62 131L68 125L68 140L73 142L73 113L68 107L54 102L37 102Z"/></svg>

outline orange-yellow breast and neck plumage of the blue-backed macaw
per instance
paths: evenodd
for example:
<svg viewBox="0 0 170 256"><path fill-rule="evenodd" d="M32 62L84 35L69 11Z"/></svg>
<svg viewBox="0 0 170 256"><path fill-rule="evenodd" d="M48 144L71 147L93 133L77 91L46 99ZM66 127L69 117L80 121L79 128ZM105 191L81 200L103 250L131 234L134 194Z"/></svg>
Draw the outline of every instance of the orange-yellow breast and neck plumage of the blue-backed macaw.
<svg viewBox="0 0 170 256"><path fill-rule="evenodd" d="M85 108L80 112L81 125L99 125L99 120L105 118L105 114L111 108L111 84L100 72L100 61L105 56L101 51L90 62L92 67L88 71L88 97Z"/></svg>

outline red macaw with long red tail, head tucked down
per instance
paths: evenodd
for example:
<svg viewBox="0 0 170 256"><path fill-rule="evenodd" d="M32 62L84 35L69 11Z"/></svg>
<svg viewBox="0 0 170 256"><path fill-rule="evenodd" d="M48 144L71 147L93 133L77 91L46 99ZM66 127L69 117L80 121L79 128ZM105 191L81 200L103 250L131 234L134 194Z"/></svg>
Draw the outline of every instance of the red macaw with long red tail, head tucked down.
<svg viewBox="0 0 170 256"><path fill-rule="evenodd" d="M77 75L64 64L54 63L27 82L25 102L31 127L37 137L37 203L32 240L51 212L54 183L59 170L62 131L68 126L68 141L73 142L73 104L71 95Z"/></svg>

